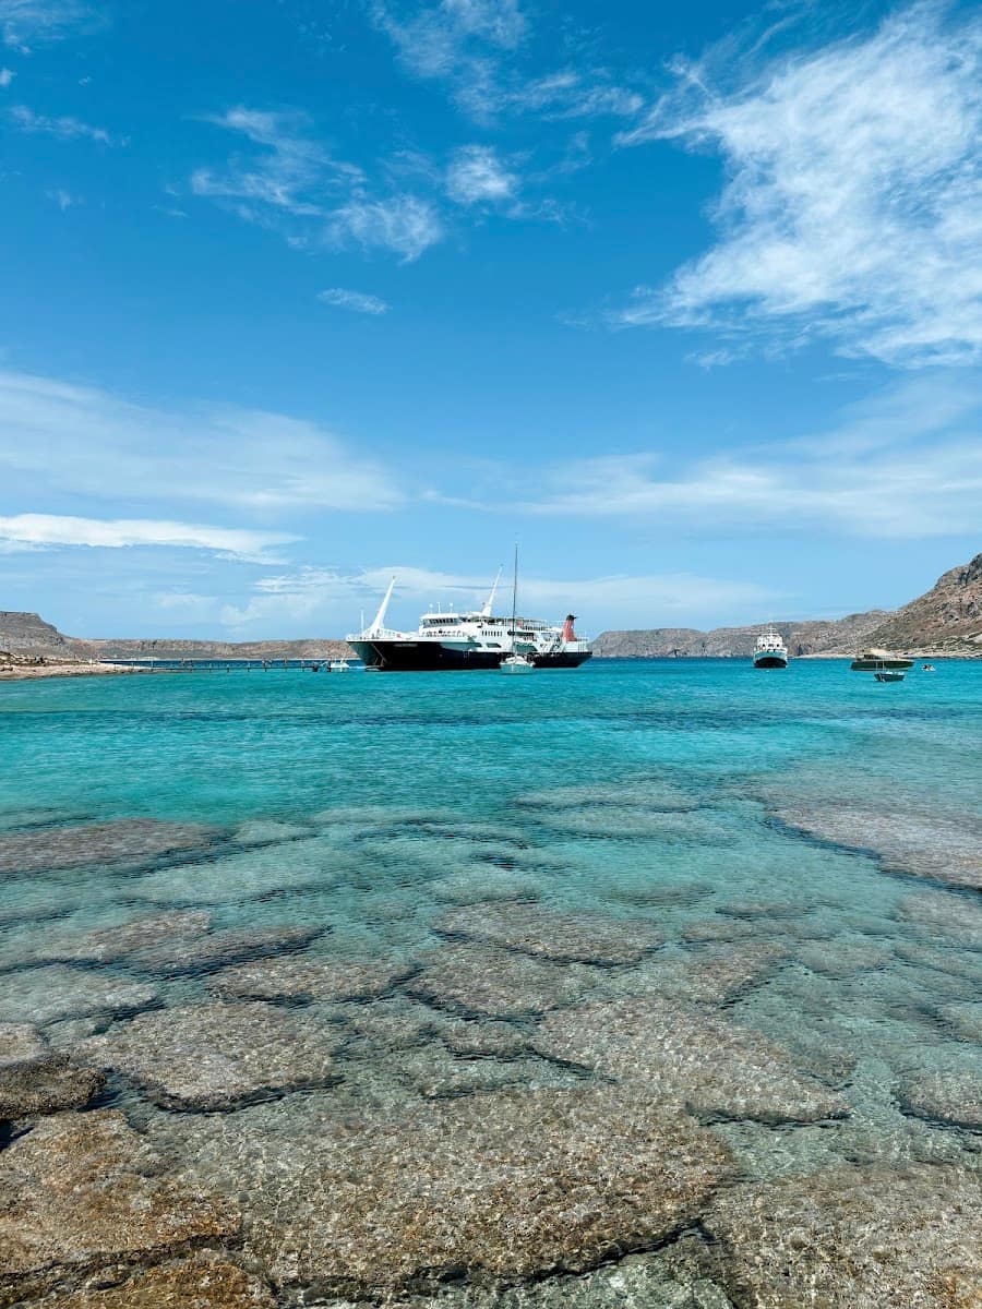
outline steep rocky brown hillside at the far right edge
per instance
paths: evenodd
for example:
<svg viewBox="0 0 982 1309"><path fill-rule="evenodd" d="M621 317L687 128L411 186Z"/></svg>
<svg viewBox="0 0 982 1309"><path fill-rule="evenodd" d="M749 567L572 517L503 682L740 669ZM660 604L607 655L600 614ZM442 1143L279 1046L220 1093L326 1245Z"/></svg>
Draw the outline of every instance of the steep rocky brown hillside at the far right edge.
<svg viewBox="0 0 982 1309"><path fill-rule="evenodd" d="M900 651L982 654L982 554L937 579L869 636L871 645Z"/></svg>

